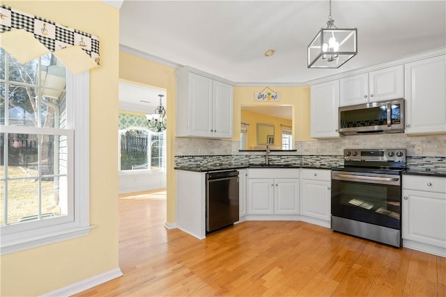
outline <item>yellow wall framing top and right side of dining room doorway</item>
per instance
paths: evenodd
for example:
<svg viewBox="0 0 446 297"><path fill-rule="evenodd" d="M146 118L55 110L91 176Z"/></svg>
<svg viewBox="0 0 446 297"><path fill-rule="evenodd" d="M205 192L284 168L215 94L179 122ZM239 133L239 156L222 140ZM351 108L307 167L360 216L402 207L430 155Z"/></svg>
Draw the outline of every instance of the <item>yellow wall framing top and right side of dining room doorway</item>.
<svg viewBox="0 0 446 297"><path fill-rule="evenodd" d="M175 68L124 52L119 54L119 79L155 88L164 88L167 116L167 223L176 222L176 172L174 170L176 134ZM240 125L239 125L240 126Z"/></svg>

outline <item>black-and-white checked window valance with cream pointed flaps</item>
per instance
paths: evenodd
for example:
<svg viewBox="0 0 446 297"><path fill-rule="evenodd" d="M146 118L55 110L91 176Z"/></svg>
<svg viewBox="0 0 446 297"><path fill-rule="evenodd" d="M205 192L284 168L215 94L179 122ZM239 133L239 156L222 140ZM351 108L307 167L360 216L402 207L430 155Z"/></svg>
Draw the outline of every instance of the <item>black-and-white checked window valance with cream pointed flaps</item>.
<svg viewBox="0 0 446 297"><path fill-rule="evenodd" d="M20 63L52 52L73 73L99 67L99 38L0 5L0 42Z"/></svg>

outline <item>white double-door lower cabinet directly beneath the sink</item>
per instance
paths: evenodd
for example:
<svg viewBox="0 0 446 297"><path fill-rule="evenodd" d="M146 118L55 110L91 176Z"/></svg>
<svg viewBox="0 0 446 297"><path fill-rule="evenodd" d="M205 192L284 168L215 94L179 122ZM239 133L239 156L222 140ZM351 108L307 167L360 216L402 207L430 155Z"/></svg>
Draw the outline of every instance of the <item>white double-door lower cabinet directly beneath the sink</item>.
<svg viewBox="0 0 446 297"><path fill-rule="evenodd" d="M299 214L299 169L255 168L248 176L249 218L292 219Z"/></svg>

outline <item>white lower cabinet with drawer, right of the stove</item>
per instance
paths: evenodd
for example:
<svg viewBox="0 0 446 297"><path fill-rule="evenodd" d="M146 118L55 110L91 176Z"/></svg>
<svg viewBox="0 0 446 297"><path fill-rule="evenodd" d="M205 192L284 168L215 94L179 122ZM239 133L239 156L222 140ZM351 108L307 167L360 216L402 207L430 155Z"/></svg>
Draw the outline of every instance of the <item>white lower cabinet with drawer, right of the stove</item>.
<svg viewBox="0 0 446 297"><path fill-rule="evenodd" d="M403 246L446 257L446 178L403 175Z"/></svg>

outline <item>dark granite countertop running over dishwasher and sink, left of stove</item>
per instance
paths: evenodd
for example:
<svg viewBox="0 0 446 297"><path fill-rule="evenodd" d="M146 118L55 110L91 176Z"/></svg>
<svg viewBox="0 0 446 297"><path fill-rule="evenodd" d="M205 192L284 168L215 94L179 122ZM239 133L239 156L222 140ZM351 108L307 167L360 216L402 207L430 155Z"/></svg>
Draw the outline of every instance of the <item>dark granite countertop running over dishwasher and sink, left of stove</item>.
<svg viewBox="0 0 446 297"><path fill-rule="evenodd" d="M300 164L247 164L247 165L215 165L215 166L178 166L176 170L186 170L193 172L209 172L217 170L237 170L243 168L310 168L310 169L331 169L332 166L314 166Z"/></svg>

